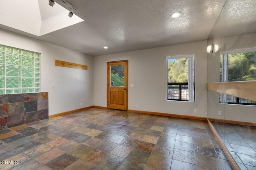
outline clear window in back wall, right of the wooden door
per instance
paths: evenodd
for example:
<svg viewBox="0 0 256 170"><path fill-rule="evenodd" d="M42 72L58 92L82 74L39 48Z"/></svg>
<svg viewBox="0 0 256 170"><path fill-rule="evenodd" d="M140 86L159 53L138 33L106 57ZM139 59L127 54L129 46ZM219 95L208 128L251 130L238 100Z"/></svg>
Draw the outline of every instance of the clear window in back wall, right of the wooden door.
<svg viewBox="0 0 256 170"><path fill-rule="evenodd" d="M195 101L195 56L167 57L167 100Z"/></svg>

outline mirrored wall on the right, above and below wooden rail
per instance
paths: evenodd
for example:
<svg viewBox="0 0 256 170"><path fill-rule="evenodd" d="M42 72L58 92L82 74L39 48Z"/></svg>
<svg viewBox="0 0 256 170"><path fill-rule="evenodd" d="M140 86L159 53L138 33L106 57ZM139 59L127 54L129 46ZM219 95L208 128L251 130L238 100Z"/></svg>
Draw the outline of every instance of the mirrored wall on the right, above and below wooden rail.
<svg viewBox="0 0 256 170"><path fill-rule="evenodd" d="M207 53L208 83L256 80L255 0L226 0L207 46L213 47ZM207 117L228 152L240 169L256 169L256 101L210 90L207 95Z"/></svg>

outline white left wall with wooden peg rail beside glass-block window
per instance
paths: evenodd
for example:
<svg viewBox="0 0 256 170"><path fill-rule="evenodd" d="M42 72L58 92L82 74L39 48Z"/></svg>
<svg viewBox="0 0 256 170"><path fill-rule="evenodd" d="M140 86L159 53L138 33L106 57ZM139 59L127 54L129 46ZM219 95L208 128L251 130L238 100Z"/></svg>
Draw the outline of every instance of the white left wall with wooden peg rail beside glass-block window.
<svg viewBox="0 0 256 170"><path fill-rule="evenodd" d="M49 92L49 115L93 106L91 56L3 29L0 44L41 53L41 92ZM88 70L55 66L55 60L84 64Z"/></svg>

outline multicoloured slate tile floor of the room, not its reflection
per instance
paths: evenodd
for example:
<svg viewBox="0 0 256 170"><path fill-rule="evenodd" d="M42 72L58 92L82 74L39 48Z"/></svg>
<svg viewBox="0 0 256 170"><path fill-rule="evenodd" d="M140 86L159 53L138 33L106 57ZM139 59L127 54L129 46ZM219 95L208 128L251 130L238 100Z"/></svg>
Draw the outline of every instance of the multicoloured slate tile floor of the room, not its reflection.
<svg viewBox="0 0 256 170"><path fill-rule="evenodd" d="M205 121L87 109L0 131L1 170L230 170Z"/></svg>

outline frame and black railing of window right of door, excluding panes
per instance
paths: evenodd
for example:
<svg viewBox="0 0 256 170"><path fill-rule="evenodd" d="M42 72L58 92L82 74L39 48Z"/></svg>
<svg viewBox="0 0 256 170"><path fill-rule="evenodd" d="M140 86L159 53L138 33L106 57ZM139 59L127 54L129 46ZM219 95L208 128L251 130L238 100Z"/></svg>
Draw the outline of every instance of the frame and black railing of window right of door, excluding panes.
<svg viewBox="0 0 256 170"><path fill-rule="evenodd" d="M172 83L172 82L168 82L168 60L169 59L182 59L182 58L188 58L188 82L183 82L183 83ZM167 68L167 75L166 75L166 81L167 81L167 101L182 101L182 102L195 102L196 98L195 98L195 79L196 79L196 69L195 69L195 65L196 65L196 55L178 55L178 56L168 56L166 57L166 68ZM194 64L194 66L193 66ZM168 93L169 93L169 89L168 89L168 85L180 85L179 86L179 99L170 99L168 97ZM188 85L188 100L182 100L182 95L181 95L181 86L182 85ZM192 95L191 95L192 94Z"/></svg>

